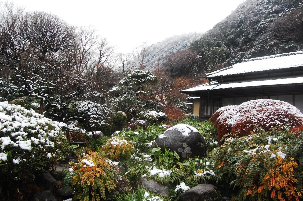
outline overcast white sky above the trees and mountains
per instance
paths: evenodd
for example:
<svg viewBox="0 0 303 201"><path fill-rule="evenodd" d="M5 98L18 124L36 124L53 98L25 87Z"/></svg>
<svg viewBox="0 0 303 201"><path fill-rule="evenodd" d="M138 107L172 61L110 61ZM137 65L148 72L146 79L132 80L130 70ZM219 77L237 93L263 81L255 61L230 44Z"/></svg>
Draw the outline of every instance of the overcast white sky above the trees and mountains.
<svg viewBox="0 0 303 201"><path fill-rule="evenodd" d="M244 0L12 0L25 10L58 15L69 24L93 25L118 52L190 32L206 32Z"/></svg>

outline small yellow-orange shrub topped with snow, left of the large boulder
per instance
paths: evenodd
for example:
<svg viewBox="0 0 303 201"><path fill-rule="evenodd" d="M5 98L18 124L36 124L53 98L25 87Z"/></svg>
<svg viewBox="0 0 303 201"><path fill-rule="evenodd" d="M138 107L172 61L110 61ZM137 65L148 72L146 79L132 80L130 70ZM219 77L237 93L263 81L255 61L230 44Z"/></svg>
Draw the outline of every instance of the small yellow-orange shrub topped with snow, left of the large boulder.
<svg viewBox="0 0 303 201"><path fill-rule="evenodd" d="M129 159L134 152L135 148L132 144L129 144L128 141L118 138L117 136L109 138L100 150L100 153L104 157L119 161Z"/></svg>

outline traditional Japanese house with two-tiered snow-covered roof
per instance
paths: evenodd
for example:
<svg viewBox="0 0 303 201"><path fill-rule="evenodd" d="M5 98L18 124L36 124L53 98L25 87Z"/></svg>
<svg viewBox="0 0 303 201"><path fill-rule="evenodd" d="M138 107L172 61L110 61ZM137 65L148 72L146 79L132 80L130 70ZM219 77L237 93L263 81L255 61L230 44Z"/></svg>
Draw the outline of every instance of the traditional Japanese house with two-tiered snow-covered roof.
<svg viewBox="0 0 303 201"><path fill-rule="evenodd" d="M209 118L217 109L253 99L277 99L303 112L303 51L243 60L204 76L208 83L189 94L193 114Z"/></svg>

